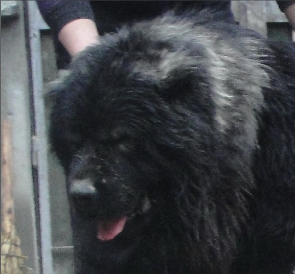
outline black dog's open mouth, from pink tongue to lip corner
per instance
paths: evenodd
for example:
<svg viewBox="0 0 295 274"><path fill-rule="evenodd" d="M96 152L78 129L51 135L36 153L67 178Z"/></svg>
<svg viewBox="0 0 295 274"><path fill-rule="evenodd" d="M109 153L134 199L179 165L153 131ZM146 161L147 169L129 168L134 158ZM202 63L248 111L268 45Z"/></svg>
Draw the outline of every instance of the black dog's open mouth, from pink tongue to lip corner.
<svg viewBox="0 0 295 274"><path fill-rule="evenodd" d="M150 207L150 200L147 197L145 197L141 200L141 204L138 207L137 211L130 217L123 216L112 220L98 220L96 235L97 239L101 241L113 240L118 234L120 234L124 230L126 222L129 219L134 218L137 214L144 214L148 212Z"/></svg>

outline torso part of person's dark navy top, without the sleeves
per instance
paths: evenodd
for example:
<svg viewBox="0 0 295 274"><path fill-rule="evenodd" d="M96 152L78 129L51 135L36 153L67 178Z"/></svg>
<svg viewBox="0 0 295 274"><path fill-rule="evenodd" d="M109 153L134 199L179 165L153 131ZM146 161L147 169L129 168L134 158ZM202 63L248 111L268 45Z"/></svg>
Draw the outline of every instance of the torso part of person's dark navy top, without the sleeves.
<svg viewBox="0 0 295 274"><path fill-rule="evenodd" d="M190 11L198 21L198 12L214 11L214 21L234 23L230 1L90 1L99 33L115 31L122 24L153 19L168 10L176 14Z"/></svg>

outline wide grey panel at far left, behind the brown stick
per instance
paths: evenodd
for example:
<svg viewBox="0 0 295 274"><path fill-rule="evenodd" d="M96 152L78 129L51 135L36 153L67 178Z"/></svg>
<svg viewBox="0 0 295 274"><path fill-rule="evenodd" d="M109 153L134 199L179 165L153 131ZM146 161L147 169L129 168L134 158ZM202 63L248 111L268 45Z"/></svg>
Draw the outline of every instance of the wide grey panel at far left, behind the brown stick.
<svg viewBox="0 0 295 274"><path fill-rule="evenodd" d="M12 185L24 266L40 274L31 161L30 84L23 1L1 1L1 123L11 125Z"/></svg>

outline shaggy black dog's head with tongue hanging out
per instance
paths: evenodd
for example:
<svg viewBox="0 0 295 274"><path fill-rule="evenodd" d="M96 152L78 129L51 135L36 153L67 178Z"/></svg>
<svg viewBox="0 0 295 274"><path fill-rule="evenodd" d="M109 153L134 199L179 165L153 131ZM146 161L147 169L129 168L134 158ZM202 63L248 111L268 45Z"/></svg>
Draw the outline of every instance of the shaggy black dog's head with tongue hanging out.
<svg viewBox="0 0 295 274"><path fill-rule="evenodd" d="M138 33L128 35L87 49L53 91L52 148L66 170L71 205L98 220L100 240L168 203L163 197L182 176L176 170L187 160L183 151L197 145L198 119L182 108L194 88L192 70L169 52L171 44L152 48Z"/></svg>

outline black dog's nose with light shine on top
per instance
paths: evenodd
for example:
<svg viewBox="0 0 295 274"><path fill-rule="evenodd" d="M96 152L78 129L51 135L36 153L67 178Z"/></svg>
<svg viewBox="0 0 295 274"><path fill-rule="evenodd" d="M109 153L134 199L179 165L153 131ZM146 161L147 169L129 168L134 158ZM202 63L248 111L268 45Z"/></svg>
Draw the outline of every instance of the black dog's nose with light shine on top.
<svg viewBox="0 0 295 274"><path fill-rule="evenodd" d="M69 195L76 206L93 207L97 199L97 190L91 179L74 179L69 188Z"/></svg>

